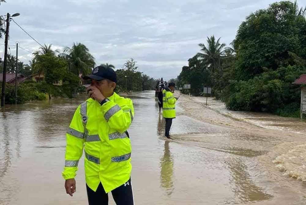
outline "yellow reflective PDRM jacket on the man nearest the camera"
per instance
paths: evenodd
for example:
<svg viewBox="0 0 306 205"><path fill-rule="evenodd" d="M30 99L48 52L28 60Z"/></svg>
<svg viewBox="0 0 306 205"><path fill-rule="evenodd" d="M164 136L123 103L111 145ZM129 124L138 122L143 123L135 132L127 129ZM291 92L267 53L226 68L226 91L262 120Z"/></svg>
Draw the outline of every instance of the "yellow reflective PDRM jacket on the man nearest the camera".
<svg viewBox="0 0 306 205"><path fill-rule="evenodd" d="M116 93L108 99L101 106L90 98L76 109L66 134L62 172L65 180L76 176L84 147L86 184L96 191L101 182L106 193L130 178L132 147L126 130L134 116L131 99Z"/></svg>

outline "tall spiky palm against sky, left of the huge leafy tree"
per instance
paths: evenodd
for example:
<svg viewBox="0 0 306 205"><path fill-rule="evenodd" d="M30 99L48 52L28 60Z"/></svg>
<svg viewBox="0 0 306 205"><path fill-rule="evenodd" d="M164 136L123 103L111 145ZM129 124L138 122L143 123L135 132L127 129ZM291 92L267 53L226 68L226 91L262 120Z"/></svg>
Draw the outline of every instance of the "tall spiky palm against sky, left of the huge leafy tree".
<svg viewBox="0 0 306 205"><path fill-rule="evenodd" d="M219 38L217 41L215 36L207 37L208 46L204 43L200 43L202 53L197 53L197 57L200 58L202 63L208 64L211 71L214 73L220 68L221 55L224 52L225 43L220 43Z"/></svg>

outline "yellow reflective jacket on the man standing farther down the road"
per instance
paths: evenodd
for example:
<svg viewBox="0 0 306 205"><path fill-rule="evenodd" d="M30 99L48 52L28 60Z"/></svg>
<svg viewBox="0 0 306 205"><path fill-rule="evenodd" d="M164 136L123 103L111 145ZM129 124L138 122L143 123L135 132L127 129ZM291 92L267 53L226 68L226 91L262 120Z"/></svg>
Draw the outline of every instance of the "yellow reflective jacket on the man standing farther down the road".
<svg viewBox="0 0 306 205"><path fill-rule="evenodd" d="M162 91L162 116L164 118L175 118L175 103L176 99L169 88Z"/></svg>

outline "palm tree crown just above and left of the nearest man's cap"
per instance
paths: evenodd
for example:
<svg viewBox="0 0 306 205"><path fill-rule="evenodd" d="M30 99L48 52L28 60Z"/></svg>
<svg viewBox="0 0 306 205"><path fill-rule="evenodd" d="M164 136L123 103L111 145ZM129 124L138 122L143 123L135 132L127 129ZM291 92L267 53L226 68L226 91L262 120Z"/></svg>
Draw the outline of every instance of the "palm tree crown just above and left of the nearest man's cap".
<svg viewBox="0 0 306 205"><path fill-rule="evenodd" d="M59 55L68 61L69 71L79 76L80 73L87 75L91 67L95 65L95 58L89 53L89 49L82 43L73 43L71 48L66 47Z"/></svg>

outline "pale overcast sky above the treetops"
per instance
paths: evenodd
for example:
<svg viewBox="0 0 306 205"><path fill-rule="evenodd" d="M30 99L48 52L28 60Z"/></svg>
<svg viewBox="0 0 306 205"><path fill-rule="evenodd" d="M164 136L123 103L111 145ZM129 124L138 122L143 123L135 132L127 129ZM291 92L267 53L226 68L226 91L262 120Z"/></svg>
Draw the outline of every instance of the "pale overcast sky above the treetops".
<svg viewBox="0 0 306 205"><path fill-rule="evenodd" d="M7 0L1 15L14 17L41 44L54 49L85 44L97 64L111 63L120 69L134 58L139 71L165 80L176 78L188 58L207 36L221 37L229 45L245 17L266 8L273 0ZM299 0L305 6L306 0ZM40 46L11 21L9 44L16 41L29 51ZM0 39L4 44L4 38ZM4 46L0 45L0 57ZM16 48L10 46L12 54ZM19 49L27 63L32 54Z"/></svg>

